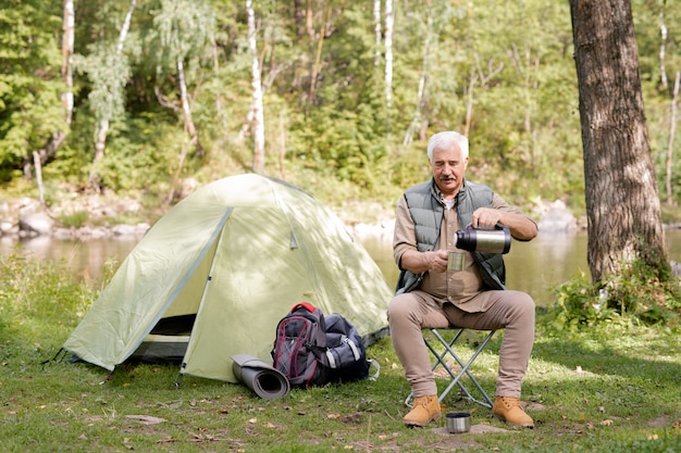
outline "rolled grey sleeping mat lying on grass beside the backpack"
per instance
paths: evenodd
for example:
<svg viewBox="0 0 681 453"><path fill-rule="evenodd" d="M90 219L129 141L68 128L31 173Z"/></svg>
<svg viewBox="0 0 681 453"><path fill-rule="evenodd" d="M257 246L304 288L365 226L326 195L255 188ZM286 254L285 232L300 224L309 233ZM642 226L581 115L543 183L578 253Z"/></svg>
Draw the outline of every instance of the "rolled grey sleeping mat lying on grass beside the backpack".
<svg viewBox="0 0 681 453"><path fill-rule="evenodd" d="M288 393L288 379L278 369L248 354L236 354L232 360L234 376L258 397L274 400Z"/></svg>

